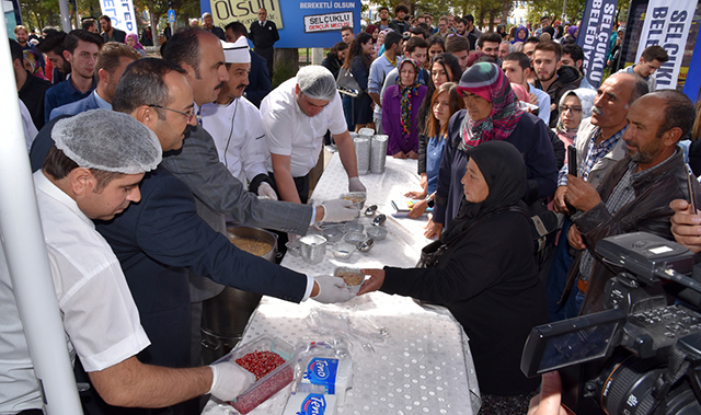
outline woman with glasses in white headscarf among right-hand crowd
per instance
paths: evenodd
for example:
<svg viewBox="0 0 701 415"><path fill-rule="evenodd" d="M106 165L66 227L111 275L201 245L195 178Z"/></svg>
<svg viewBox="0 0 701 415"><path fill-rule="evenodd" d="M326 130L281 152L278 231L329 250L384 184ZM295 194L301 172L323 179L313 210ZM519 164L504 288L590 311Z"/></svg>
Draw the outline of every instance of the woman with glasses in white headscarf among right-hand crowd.
<svg viewBox="0 0 701 415"><path fill-rule="evenodd" d="M577 136L579 124L583 119L591 116L595 97L595 90L577 88L565 92L560 99L560 116L558 117L558 126L553 128L553 131L555 131L565 148L574 146L574 138ZM566 162L567 153L565 153Z"/></svg>

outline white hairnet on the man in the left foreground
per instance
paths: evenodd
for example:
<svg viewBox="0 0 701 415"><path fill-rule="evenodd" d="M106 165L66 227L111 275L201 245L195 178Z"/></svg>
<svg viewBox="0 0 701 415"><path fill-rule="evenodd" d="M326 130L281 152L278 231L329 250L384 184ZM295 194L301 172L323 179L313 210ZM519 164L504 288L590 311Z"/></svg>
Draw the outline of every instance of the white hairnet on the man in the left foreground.
<svg viewBox="0 0 701 415"><path fill-rule="evenodd" d="M153 131L131 116L92 109L56 123L56 148L81 168L138 174L161 162L161 143Z"/></svg>

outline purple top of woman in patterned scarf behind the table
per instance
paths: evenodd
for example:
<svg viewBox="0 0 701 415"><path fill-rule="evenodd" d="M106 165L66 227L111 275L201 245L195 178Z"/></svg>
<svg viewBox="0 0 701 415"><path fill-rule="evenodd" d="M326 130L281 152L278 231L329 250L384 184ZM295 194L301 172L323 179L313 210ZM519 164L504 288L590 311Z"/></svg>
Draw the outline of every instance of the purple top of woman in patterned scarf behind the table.
<svg viewBox="0 0 701 415"><path fill-rule="evenodd" d="M418 94L412 94L412 129L409 136L402 129L402 92L400 85L391 85L382 97L382 131L389 136L387 154L393 155L402 151L418 152L418 107L426 96L426 87L418 85Z"/></svg>

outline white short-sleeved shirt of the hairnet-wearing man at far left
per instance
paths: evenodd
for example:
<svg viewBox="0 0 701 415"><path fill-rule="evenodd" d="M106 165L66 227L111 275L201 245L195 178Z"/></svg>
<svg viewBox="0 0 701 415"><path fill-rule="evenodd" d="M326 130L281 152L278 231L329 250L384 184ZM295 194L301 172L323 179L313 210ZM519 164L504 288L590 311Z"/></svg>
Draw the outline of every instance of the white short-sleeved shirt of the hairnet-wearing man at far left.
<svg viewBox="0 0 701 415"><path fill-rule="evenodd" d="M150 342L117 257L76 201L41 170L34 187L71 359L78 354L90 372L135 356ZM0 260L0 413L42 408L7 262Z"/></svg>

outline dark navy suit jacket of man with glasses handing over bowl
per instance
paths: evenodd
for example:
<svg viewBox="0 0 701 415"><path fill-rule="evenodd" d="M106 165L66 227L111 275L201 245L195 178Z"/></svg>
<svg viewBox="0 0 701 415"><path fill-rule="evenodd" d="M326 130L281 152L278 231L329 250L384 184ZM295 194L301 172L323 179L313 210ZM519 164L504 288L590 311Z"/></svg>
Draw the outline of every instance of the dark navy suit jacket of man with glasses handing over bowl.
<svg viewBox="0 0 701 415"><path fill-rule="evenodd" d="M197 275L241 290L299 302L307 276L237 249L198 215L192 193L163 166L140 185L141 200L97 231L117 255L151 341L141 361L189 364L189 284Z"/></svg>

